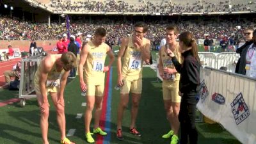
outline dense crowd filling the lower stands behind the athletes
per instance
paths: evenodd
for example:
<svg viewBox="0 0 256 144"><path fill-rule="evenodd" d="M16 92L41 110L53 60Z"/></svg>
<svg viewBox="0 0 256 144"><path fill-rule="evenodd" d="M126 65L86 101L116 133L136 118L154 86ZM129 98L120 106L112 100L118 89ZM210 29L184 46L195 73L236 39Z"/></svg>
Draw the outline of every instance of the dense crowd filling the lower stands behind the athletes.
<svg viewBox="0 0 256 144"><path fill-rule="evenodd" d="M149 31L147 38L150 39L154 45L159 45L161 39L164 37L164 28L170 22L166 21L148 21ZM193 20L173 22L179 26L180 31L191 31L195 33L196 39L204 39L205 33L209 34L210 39L220 40L221 38L229 38L232 34L239 36L239 39L244 40L244 28L255 27L253 22L240 20L233 22L222 20L221 22L204 22ZM237 26L241 25L241 29ZM131 35L132 31L131 21L116 21L109 19L105 20L74 20L70 22L70 34L74 35L78 32L83 33L82 37L92 35L95 28L103 27L108 31L108 41L115 44L120 44L120 40L127 35ZM58 36L63 35L66 31L66 26L58 23L31 23L28 21L19 20L15 17L0 17L0 39L1 40L57 40ZM33 35L33 37L32 37ZM83 38L82 38L83 40Z"/></svg>

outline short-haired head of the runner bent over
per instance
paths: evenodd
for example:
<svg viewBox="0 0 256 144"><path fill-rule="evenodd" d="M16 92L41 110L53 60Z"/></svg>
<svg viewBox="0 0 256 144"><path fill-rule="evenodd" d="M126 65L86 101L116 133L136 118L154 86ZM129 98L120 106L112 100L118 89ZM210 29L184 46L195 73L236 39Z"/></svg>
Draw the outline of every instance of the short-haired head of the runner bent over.
<svg viewBox="0 0 256 144"><path fill-rule="evenodd" d="M73 52L65 52L61 55L60 60L63 62L63 68L70 70L71 68L77 67L76 56Z"/></svg>

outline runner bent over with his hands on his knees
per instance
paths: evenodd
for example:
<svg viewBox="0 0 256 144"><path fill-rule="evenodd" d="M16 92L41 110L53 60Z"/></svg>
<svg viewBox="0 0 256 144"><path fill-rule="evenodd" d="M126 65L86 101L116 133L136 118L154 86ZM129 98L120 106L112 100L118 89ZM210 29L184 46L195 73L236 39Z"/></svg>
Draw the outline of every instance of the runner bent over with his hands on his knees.
<svg viewBox="0 0 256 144"><path fill-rule="evenodd" d="M36 70L34 83L36 97L41 110L40 127L44 144L49 144L47 139L50 106L47 99L48 92L56 108L57 122L61 132L61 143L74 144L66 138L64 108L64 88L70 69L73 67L76 67L76 56L72 52L66 52L46 56Z"/></svg>

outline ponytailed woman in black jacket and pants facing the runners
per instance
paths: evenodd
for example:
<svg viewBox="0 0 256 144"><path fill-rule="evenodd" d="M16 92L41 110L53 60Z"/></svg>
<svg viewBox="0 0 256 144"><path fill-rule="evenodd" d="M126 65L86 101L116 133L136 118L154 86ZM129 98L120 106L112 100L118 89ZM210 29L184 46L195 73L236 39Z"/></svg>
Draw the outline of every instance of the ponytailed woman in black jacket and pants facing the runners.
<svg viewBox="0 0 256 144"><path fill-rule="evenodd" d="M179 94L180 103L180 144L196 144L198 134L195 127L196 104L199 100L200 59L196 40L192 33L184 32L179 35L180 52L184 61L180 64L172 51L166 50L172 58L173 64L180 73Z"/></svg>

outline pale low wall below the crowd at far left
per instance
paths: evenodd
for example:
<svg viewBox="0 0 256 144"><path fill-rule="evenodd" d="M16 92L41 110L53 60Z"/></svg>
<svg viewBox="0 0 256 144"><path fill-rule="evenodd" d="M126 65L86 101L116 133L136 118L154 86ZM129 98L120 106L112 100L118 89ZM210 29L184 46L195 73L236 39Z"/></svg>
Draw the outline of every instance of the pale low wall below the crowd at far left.
<svg viewBox="0 0 256 144"><path fill-rule="evenodd" d="M58 40L38 40L36 41L37 47L43 47L45 51L51 51L56 47ZM8 45L13 48L19 48L20 51L29 51L29 40L0 40L0 49L8 49Z"/></svg>

